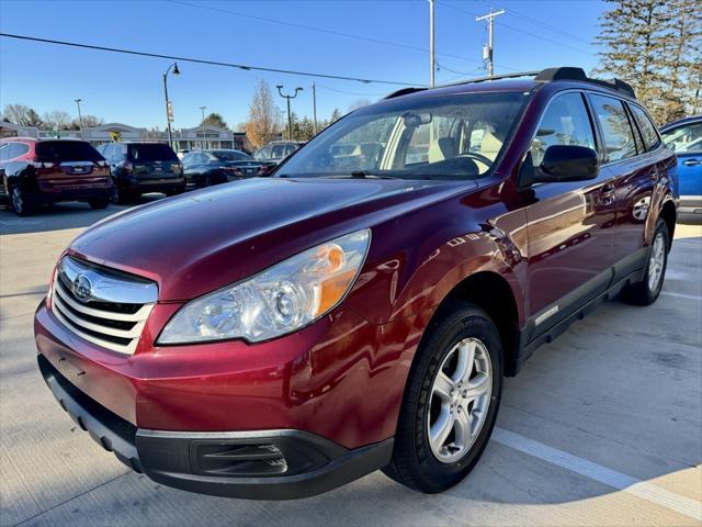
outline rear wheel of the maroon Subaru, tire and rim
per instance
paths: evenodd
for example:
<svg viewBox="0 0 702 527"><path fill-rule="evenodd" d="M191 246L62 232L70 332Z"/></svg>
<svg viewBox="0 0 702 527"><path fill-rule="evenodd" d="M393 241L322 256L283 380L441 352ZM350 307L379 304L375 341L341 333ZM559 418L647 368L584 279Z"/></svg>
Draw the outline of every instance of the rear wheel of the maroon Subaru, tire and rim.
<svg viewBox="0 0 702 527"><path fill-rule="evenodd" d="M668 225L663 220L658 220L648 250L644 279L622 291L622 298L626 302L634 305L650 305L658 299L666 278L669 249L670 234L668 233Z"/></svg>

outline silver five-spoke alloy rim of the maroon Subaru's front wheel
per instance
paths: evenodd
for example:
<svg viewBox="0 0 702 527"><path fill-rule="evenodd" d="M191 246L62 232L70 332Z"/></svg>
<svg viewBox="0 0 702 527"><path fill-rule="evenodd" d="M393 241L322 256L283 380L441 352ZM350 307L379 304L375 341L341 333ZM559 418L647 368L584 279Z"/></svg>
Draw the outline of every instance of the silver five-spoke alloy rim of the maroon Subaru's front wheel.
<svg viewBox="0 0 702 527"><path fill-rule="evenodd" d="M427 419L429 445L443 463L463 458L487 418L492 391L490 355L477 338L457 343L431 386Z"/></svg>

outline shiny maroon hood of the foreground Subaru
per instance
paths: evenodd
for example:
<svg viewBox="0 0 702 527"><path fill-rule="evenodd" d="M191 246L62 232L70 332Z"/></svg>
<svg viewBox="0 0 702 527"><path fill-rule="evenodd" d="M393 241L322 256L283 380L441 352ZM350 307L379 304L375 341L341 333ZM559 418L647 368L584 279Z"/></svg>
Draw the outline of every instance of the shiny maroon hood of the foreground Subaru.
<svg viewBox="0 0 702 527"><path fill-rule="evenodd" d="M160 301L190 300L471 184L256 178L123 211L68 253L155 280Z"/></svg>

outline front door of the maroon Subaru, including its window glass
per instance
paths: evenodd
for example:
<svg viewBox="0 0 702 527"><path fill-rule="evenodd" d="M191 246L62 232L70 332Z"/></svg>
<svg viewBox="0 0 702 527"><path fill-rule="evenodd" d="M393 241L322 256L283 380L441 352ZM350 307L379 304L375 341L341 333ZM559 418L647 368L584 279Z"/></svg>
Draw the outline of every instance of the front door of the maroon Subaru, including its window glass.
<svg viewBox="0 0 702 527"><path fill-rule="evenodd" d="M551 99L528 160L539 166L552 145L598 149L581 92L561 92ZM609 285L614 264L614 181L600 173L588 181L536 182L531 192L529 312L537 336Z"/></svg>

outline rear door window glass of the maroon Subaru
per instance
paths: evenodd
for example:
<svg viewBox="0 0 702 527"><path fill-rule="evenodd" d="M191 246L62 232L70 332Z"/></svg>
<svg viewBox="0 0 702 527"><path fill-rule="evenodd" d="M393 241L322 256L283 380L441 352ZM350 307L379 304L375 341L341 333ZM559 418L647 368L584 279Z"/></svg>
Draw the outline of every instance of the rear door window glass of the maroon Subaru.
<svg viewBox="0 0 702 527"><path fill-rule="evenodd" d="M619 161L636 156L636 141L624 104L619 99L590 94L597 120L602 127L604 158Z"/></svg>

